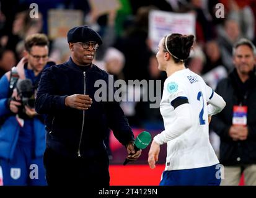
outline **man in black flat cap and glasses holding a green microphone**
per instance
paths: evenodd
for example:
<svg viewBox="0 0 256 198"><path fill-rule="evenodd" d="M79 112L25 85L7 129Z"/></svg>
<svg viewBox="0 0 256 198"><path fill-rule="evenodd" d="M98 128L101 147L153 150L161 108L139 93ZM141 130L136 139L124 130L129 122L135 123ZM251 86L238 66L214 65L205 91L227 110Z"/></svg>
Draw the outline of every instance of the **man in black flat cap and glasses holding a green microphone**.
<svg viewBox="0 0 256 198"><path fill-rule="evenodd" d="M133 132L119 104L94 98L95 81L108 84L107 72L92 64L102 44L100 35L87 26L74 27L68 43L71 58L43 72L35 101L37 113L46 114L46 181L50 186L108 186L108 127L132 153L128 159L136 160L141 150L135 151Z"/></svg>

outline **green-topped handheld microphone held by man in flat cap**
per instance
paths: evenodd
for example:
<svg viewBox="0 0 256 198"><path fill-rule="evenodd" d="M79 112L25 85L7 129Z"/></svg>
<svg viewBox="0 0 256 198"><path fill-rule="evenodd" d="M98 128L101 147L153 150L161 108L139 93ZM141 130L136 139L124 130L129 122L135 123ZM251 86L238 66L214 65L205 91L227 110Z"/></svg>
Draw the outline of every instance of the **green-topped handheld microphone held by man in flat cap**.
<svg viewBox="0 0 256 198"><path fill-rule="evenodd" d="M151 142L151 135L147 131L141 132L135 139L135 152L137 152L139 149L145 149L148 147L149 143ZM129 155L131 155L130 153ZM126 165L129 161L128 158L125 159L123 162L123 165Z"/></svg>

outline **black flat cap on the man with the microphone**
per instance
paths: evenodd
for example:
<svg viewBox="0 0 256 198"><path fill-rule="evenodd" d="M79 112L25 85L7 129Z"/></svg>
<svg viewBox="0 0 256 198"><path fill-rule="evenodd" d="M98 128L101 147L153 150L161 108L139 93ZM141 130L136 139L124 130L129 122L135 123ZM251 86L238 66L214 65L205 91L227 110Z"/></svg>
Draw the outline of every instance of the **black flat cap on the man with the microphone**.
<svg viewBox="0 0 256 198"><path fill-rule="evenodd" d="M68 31L68 43L84 43L86 41L94 41L99 43L99 45L102 44L102 39L99 33L95 32L87 25L77 26Z"/></svg>

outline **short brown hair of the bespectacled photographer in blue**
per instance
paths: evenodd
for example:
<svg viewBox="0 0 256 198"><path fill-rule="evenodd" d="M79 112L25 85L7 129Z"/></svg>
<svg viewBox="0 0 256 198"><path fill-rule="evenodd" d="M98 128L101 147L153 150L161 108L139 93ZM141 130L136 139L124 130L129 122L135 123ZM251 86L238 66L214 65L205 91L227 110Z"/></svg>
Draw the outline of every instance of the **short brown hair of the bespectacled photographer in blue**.
<svg viewBox="0 0 256 198"><path fill-rule="evenodd" d="M30 51L32 46L48 46L49 41L45 34L43 33L34 33L25 38L25 49Z"/></svg>

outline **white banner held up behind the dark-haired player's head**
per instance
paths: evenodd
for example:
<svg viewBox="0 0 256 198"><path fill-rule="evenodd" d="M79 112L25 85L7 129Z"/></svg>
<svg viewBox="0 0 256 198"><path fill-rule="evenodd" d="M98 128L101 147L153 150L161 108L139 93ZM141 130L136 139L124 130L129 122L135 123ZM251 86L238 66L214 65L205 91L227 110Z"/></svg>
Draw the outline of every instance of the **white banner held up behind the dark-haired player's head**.
<svg viewBox="0 0 256 198"><path fill-rule="evenodd" d="M169 33L195 35L195 14L151 11L149 13L149 39L152 51L157 52L159 41Z"/></svg>

